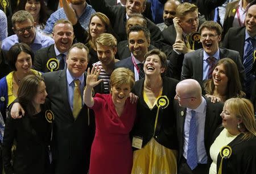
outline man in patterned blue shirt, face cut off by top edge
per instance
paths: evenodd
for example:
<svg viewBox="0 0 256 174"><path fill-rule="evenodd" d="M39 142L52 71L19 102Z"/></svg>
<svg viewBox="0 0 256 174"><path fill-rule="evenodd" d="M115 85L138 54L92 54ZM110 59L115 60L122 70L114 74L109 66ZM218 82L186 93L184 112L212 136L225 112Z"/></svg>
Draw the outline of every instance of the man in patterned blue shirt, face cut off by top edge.
<svg viewBox="0 0 256 174"><path fill-rule="evenodd" d="M71 0L70 3L70 6L75 11L81 26L85 30L89 30L88 24L90 21L90 16L95 13L95 10L92 8L92 6L86 3L86 0ZM59 19L67 19L63 8L51 14L49 19L47 20L46 27L44 28L44 33L50 35L52 33L53 25Z"/></svg>

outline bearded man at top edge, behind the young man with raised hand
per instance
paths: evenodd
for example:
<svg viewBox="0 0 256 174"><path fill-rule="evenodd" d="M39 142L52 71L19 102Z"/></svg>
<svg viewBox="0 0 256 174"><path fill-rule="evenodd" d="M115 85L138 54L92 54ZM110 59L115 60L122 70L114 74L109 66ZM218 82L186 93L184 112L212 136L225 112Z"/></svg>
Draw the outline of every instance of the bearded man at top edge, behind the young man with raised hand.
<svg viewBox="0 0 256 174"><path fill-rule="evenodd" d="M168 0L164 4L164 11L163 11L163 20L164 20L164 22L163 23L159 23L159 24L156 25L156 26L158 26L160 28L161 31L163 31L167 27L169 27L172 24L174 24L172 19L175 18L176 9L177 9L178 5L180 5L180 2L177 1L177 0Z"/></svg>

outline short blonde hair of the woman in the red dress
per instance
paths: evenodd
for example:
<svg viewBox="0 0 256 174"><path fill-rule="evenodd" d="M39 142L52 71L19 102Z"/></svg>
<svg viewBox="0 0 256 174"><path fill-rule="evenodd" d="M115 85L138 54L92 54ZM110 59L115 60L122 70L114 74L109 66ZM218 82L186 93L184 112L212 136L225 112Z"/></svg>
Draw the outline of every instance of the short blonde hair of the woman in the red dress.
<svg viewBox="0 0 256 174"><path fill-rule="evenodd" d="M115 69L110 76L109 86L122 86L126 84L130 85L130 88L133 88L135 84L134 73L127 68Z"/></svg>

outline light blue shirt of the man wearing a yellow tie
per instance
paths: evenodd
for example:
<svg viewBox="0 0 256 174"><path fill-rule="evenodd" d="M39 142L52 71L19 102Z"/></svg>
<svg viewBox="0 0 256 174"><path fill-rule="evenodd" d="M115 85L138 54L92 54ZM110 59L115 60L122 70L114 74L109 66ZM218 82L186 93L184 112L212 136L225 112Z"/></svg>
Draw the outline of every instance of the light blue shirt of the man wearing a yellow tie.
<svg viewBox="0 0 256 174"><path fill-rule="evenodd" d="M84 73L82 74L82 76L80 76L79 78L75 78L72 76L72 74L68 71L67 68L67 88L68 88L68 102L69 102L69 106L71 108L71 110L73 111L73 98L74 98L74 88L75 88L75 83L74 80L78 79L80 81L80 92L81 92L81 100L82 100L82 94L84 92ZM84 105L84 103L82 102L82 105Z"/></svg>

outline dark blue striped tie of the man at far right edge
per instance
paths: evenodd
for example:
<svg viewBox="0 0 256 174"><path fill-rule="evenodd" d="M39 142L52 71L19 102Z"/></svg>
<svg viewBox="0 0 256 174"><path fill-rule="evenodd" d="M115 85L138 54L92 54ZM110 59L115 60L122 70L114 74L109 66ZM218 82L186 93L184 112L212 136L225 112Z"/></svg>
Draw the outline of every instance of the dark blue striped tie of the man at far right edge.
<svg viewBox="0 0 256 174"><path fill-rule="evenodd" d="M247 47L245 49L245 56L243 56L243 67L245 67L245 75L246 75L246 94L250 94L251 92L251 82L253 78L253 73L251 73L251 69L253 69L253 38L246 39Z"/></svg>

